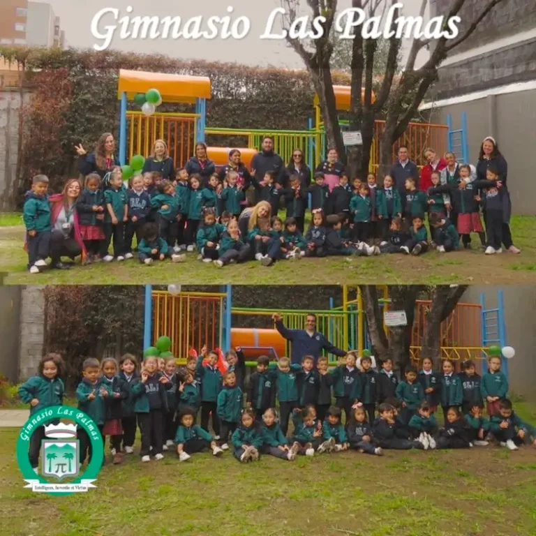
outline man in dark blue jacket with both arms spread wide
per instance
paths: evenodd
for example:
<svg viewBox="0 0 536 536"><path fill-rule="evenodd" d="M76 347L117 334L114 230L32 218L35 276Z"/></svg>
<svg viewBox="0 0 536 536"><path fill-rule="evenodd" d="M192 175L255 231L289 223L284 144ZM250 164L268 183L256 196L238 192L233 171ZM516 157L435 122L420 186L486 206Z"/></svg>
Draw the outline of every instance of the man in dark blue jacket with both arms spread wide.
<svg viewBox="0 0 536 536"><path fill-rule="evenodd" d="M313 313L307 315L305 329L287 329L278 313L274 314L272 318L276 322L276 329L281 336L292 341L290 361L293 364L301 363L301 358L304 355L312 355L316 360L322 355L322 350L338 357L346 355L345 350L337 348L325 336L316 331L316 315Z"/></svg>

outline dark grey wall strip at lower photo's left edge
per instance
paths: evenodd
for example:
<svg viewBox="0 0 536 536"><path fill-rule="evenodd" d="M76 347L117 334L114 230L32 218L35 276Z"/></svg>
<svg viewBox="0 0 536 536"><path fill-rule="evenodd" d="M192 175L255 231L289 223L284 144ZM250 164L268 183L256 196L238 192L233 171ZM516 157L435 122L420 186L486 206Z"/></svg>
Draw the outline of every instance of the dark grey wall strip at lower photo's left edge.
<svg viewBox="0 0 536 536"><path fill-rule="evenodd" d="M20 287L0 287L0 374L17 382L19 373Z"/></svg>

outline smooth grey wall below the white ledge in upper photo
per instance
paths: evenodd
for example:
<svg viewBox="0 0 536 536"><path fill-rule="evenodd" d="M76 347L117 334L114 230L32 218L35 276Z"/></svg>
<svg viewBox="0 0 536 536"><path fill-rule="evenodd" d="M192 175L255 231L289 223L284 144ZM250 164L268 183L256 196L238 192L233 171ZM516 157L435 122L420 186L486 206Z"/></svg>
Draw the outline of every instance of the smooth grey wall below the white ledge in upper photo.
<svg viewBox="0 0 536 536"><path fill-rule="evenodd" d="M446 124L451 114L454 128L461 128L461 112L467 113L471 163L476 163L484 137L493 136L508 162L508 189L514 214L534 215L534 151L536 90L488 96L477 101L447 105L435 110L433 123Z"/></svg>

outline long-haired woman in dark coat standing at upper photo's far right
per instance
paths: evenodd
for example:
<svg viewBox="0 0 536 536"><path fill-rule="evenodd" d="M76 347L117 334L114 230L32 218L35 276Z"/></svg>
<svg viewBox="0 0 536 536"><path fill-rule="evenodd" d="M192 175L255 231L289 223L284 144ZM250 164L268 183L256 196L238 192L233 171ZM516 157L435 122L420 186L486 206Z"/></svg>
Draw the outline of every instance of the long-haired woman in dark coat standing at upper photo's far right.
<svg viewBox="0 0 536 536"><path fill-rule="evenodd" d="M480 146L480 153L477 163L477 181L486 180L488 168L498 171L499 181L502 188L502 244L510 253L521 253L519 248L514 246L512 241L512 232L510 231L510 216L512 216L512 202L507 186L508 163L502 154L500 154L496 140L491 137L485 137Z"/></svg>

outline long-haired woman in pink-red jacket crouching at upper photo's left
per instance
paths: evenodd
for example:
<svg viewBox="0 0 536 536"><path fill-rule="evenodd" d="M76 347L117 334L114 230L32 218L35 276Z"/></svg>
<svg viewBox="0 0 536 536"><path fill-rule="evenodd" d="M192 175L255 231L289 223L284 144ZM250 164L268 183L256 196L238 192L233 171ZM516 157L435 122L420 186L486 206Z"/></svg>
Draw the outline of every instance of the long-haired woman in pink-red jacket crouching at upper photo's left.
<svg viewBox="0 0 536 536"><path fill-rule="evenodd" d="M61 257L75 260L86 255L84 241L80 233L80 221L76 210L76 202L82 192L78 179L69 179L61 193L51 195L50 221L52 234L50 236L50 263L51 268L66 269L69 265L61 262Z"/></svg>

